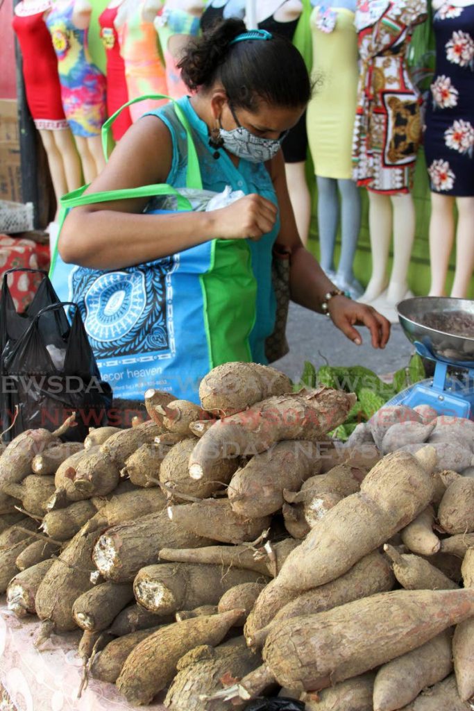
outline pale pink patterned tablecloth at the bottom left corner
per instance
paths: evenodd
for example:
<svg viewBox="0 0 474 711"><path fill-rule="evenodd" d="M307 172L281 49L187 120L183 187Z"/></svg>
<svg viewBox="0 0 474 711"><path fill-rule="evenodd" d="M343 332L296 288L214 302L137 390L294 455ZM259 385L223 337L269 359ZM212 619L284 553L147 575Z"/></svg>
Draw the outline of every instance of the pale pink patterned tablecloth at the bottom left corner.
<svg viewBox="0 0 474 711"><path fill-rule="evenodd" d="M77 656L80 632L53 635L41 651L33 646L36 617L18 619L0 597L0 687L18 711L129 711L114 684L90 679L77 699L82 666ZM1 708L1 705L0 705ZM151 711L165 711L161 703Z"/></svg>

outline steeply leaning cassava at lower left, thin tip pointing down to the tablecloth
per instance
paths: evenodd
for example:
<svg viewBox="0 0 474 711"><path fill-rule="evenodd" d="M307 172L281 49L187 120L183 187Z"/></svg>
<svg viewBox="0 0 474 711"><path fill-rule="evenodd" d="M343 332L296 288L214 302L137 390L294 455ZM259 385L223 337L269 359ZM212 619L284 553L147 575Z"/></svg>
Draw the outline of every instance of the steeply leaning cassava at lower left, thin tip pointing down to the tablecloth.
<svg viewBox="0 0 474 711"><path fill-rule="evenodd" d="M87 536L77 533L38 587L36 614L41 620L50 622L50 629L58 632L75 629L72 605L77 597L92 587L90 574L94 571L94 565L91 553L96 538L95 533Z"/></svg>

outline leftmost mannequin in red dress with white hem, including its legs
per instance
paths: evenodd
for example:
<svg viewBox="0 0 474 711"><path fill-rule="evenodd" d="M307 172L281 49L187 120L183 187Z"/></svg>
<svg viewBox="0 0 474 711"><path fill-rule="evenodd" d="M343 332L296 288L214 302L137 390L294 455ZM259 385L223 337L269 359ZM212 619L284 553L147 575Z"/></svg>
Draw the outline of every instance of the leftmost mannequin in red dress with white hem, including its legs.
<svg viewBox="0 0 474 711"><path fill-rule="evenodd" d="M23 54L28 108L48 157L59 209L60 197L80 187L81 167L61 101L58 61L44 23L50 6L50 0L23 0L15 7L13 27Z"/></svg>

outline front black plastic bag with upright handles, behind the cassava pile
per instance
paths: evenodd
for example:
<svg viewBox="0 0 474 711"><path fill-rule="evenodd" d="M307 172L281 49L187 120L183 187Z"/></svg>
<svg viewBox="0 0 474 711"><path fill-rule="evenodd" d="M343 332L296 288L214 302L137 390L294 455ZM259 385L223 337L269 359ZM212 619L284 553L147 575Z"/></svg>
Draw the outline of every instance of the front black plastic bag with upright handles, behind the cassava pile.
<svg viewBox="0 0 474 711"><path fill-rule="evenodd" d="M73 307L72 324L64 306ZM3 429L13 422L17 407L18 415L4 439L10 441L30 428L57 429L72 412L77 413L77 426L68 430L65 440L82 441L89 427L107 424L112 390L100 380L76 305L58 302L36 314L28 309L26 328L16 318L18 314L10 316L9 326L14 326L1 353Z"/></svg>

